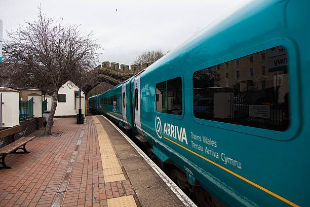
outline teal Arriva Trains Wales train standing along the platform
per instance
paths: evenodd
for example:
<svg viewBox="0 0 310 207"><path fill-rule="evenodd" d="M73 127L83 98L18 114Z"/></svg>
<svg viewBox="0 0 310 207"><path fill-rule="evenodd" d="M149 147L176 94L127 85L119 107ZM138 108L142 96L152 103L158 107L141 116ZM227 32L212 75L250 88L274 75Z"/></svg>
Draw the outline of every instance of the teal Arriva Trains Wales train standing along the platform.
<svg viewBox="0 0 310 207"><path fill-rule="evenodd" d="M251 1L89 106L199 206L310 206L309 8Z"/></svg>

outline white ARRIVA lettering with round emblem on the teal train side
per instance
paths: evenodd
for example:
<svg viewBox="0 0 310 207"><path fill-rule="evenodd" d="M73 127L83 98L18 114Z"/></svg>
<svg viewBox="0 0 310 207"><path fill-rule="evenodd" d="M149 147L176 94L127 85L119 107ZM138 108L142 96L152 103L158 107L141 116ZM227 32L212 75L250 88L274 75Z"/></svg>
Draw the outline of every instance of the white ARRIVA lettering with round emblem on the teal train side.
<svg viewBox="0 0 310 207"><path fill-rule="evenodd" d="M162 121L161 119L156 116L155 118L155 130L160 139L162 139L163 134L173 137L174 139L187 144L187 137L185 128L175 126L173 124L164 123L164 131L162 132Z"/></svg>

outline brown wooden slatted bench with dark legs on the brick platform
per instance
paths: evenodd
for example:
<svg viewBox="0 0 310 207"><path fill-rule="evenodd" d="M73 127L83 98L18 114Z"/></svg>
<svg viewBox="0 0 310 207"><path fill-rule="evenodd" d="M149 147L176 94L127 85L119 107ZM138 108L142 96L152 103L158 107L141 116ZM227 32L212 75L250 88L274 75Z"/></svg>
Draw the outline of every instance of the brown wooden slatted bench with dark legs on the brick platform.
<svg viewBox="0 0 310 207"><path fill-rule="evenodd" d="M20 137L20 139L15 141L15 134L21 132L22 128L20 125L14 126L8 129L4 129L0 131L0 140L4 139L4 137L11 136L12 143L0 148L0 164L2 164L2 167L0 166L0 169L12 169L12 167L9 167L5 163L5 158L8 154L29 154L26 150L26 144L31 141L34 136L32 137ZM17 150L23 150L17 152Z"/></svg>

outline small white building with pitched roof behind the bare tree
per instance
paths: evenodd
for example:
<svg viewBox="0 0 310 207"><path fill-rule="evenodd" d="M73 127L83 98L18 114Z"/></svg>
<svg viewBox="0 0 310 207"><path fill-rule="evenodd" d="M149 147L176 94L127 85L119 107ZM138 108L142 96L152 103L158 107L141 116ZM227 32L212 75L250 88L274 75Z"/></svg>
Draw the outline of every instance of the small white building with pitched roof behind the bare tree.
<svg viewBox="0 0 310 207"><path fill-rule="evenodd" d="M79 113L79 87L71 81L66 82L58 91L58 103L55 116L76 116ZM85 112L85 94L81 96L82 114Z"/></svg>

